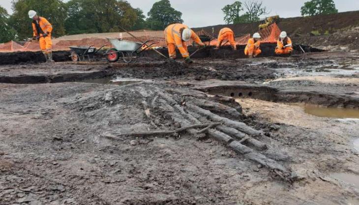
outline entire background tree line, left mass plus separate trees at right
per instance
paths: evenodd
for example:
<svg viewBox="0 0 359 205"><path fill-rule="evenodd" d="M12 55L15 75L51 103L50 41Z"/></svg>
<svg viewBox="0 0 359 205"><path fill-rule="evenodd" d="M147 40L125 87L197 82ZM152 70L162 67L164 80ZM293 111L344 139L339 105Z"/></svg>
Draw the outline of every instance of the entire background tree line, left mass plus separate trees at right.
<svg viewBox="0 0 359 205"><path fill-rule="evenodd" d="M126 0L12 0L13 14L0 6L0 43L32 36L29 10L35 10L54 26L53 36L118 32L120 28L163 30L172 23L183 23L182 13L172 8L169 0L152 5L147 18L140 8ZM235 1L222 9L227 24L252 23L270 12L259 0ZM333 0L310 0L301 7L301 14L337 13Z"/></svg>

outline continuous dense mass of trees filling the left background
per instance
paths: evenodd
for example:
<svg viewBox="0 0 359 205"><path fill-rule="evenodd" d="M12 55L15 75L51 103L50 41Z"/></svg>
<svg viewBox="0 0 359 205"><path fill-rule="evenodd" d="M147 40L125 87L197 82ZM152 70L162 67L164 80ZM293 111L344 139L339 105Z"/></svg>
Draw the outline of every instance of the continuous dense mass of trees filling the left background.
<svg viewBox="0 0 359 205"><path fill-rule="evenodd" d="M35 10L53 25L53 36L129 30L163 30L183 23L182 13L169 0L155 2L146 16L126 0L12 0L13 14L0 6L0 43L32 36L29 10Z"/></svg>

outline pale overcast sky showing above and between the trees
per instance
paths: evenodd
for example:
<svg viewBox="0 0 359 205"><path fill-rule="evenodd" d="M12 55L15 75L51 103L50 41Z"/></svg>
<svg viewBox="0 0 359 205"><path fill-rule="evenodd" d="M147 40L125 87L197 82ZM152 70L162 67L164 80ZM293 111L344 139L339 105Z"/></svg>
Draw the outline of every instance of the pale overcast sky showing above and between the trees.
<svg viewBox="0 0 359 205"><path fill-rule="evenodd" d="M41 1L41 0L39 0ZM67 0L64 0L67 1ZM159 0L127 0L132 7L141 8L145 14L150 11L152 4ZM223 8L236 0L170 0L172 7L182 12L184 24L189 27L205 27L224 24ZM241 0L243 1L243 0ZM268 16L280 17L300 16L300 7L308 0L263 0L271 11ZM334 0L339 12L359 10L359 0ZM11 0L0 0L0 5L11 14Z"/></svg>

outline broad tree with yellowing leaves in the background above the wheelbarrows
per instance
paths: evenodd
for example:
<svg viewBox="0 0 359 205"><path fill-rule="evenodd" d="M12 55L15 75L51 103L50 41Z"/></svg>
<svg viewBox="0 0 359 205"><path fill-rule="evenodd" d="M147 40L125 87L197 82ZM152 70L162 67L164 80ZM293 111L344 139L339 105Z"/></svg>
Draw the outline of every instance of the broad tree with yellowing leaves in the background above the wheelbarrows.
<svg viewBox="0 0 359 205"><path fill-rule="evenodd" d="M68 34L117 32L137 21L138 11L125 0L70 0L66 5Z"/></svg>

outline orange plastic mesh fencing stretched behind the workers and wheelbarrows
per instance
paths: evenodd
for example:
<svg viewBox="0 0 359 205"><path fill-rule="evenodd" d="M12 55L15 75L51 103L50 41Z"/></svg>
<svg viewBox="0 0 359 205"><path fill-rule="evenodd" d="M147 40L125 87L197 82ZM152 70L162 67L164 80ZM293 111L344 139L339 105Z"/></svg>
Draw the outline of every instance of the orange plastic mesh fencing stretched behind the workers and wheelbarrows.
<svg viewBox="0 0 359 205"><path fill-rule="evenodd" d="M275 43L279 37L280 29L274 23L270 25L266 29L262 29L259 33L262 36L262 42L264 43ZM216 45L217 39L213 38L213 36L207 33L204 30L196 32L197 35L204 35L212 38L209 42L210 45ZM62 36L59 38L54 38L53 42L53 50L54 51L67 51L70 50L72 46L93 46L99 48L105 44L108 44L107 47L112 47L110 41L107 38L117 38L122 40L134 41L134 42L145 42L148 40L153 40L152 42L156 42L153 44L153 47L166 47L165 34L162 30L138 30L131 31L135 37L129 35L126 32L114 32L114 33L90 33L90 34L78 34L78 35L69 35ZM250 34L237 34L235 37L235 41L238 45L245 45L250 38ZM152 43L151 42L151 43ZM192 40L187 41L187 45L191 45L193 43ZM150 43L149 43L150 44ZM208 42L206 42L208 44ZM229 43L225 43L224 45L229 45ZM7 43L0 44L0 52L15 52L15 51L40 51L39 43L36 41L26 42L24 46L20 44L10 41Z"/></svg>

